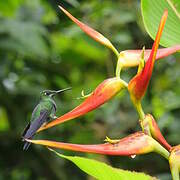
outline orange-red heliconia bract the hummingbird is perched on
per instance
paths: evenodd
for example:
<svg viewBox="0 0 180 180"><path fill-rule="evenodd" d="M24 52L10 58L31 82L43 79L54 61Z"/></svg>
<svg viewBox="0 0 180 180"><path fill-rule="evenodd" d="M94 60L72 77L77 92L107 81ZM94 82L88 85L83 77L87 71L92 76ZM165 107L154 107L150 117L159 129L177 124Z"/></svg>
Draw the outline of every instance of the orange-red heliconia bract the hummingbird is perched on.
<svg viewBox="0 0 180 180"><path fill-rule="evenodd" d="M127 84L120 78L115 77L104 80L79 106L74 108L72 111L64 114L63 116L51 121L47 125L40 128L39 131L50 128L62 122L80 117L88 113L89 111L98 108L105 102L109 101L125 87L127 87Z"/></svg>

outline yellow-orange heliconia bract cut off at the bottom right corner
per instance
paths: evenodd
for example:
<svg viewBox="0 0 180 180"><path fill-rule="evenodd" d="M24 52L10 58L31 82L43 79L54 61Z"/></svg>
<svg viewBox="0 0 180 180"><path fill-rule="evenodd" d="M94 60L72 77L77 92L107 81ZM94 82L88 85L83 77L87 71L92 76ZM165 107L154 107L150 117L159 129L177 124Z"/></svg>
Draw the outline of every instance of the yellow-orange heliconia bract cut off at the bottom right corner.
<svg viewBox="0 0 180 180"><path fill-rule="evenodd" d="M174 146L171 149L171 154L169 156L169 165L173 180L178 180L180 172L180 145Z"/></svg>

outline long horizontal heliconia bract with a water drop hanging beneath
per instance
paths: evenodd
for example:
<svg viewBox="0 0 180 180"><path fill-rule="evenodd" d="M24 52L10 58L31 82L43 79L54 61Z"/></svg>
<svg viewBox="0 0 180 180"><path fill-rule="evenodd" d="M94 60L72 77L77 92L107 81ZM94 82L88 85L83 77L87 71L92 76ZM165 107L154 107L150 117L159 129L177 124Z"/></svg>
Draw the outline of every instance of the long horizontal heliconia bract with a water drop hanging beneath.
<svg viewBox="0 0 180 180"><path fill-rule="evenodd" d="M136 132L131 134L125 138L120 139L116 144L104 143L96 145L82 145L49 140L26 139L26 141L52 148L105 155L134 156L146 154L149 152L157 152L165 158L168 158L169 156L169 152L166 149L164 149L152 137L144 134L143 132Z"/></svg>

